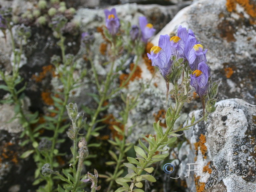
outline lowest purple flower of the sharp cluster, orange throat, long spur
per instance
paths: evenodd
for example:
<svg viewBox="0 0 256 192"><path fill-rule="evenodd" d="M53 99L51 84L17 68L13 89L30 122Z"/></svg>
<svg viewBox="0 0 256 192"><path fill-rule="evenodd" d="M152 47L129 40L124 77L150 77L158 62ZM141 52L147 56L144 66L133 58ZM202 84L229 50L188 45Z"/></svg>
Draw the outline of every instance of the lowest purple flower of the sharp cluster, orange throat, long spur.
<svg viewBox="0 0 256 192"><path fill-rule="evenodd" d="M199 95L202 106L203 106L203 114L204 114L204 108L205 108L205 95L208 91L208 78L210 76L210 68L209 66L204 62L200 62L198 64L198 69L196 69L191 75L191 81L190 85L193 86L196 89L196 93Z"/></svg>

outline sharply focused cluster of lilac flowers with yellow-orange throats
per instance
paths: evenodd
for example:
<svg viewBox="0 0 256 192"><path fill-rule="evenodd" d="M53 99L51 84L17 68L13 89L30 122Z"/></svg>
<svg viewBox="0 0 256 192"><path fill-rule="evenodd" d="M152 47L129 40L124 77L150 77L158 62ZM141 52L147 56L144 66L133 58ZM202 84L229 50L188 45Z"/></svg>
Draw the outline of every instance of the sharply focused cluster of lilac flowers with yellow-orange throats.
<svg viewBox="0 0 256 192"><path fill-rule="evenodd" d="M152 66L157 66L160 73L165 79L166 84L170 82L170 74L172 73L173 60L183 59L183 63L187 62L192 74L190 75L190 85L196 89L202 103L204 96L208 90L208 79L210 77L210 68L205 63L205 54L203 45L197 42L192 30L178 28L178 36L170 38L168 35L161 35L158 46L154 46L148 53L148 59L152 61ZM167 88L168 89L168 88ZM204 108L204 103L203 103Z"/></svg>

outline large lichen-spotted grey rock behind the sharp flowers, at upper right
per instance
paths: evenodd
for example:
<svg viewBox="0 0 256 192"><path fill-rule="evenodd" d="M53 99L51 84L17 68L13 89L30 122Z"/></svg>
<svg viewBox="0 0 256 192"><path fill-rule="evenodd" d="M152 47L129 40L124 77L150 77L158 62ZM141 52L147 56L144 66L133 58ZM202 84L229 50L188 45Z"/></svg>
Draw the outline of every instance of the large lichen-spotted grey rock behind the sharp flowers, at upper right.
<svg viewBox="0 0 256 192"><path fill-rule="evenodd" d="M240 98L255 104L255 20L247 7L236 4L236 10L228 12L230 6L226 3L226 0L194 1L165 26L152 43L157 45L160 35L175 34L180 25L192 29L204 49L208 49L206 58L213 79L222 81L218 97L221 100Z"/></svg>

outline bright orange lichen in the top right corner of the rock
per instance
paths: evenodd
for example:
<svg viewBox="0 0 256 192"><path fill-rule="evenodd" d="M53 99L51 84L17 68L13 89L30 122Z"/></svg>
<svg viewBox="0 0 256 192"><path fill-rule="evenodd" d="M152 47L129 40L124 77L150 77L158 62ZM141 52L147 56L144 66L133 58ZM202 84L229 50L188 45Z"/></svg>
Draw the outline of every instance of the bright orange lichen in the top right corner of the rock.
<svg viewBox="0 0 256 192"><path fill-rule="evenodd" d="M251 24L255 24L256 5L250 0L227 0L226 7L228 12L236 11L236 4L240 4L244 8L245 12L252 17L250 19Z"/></svg>

